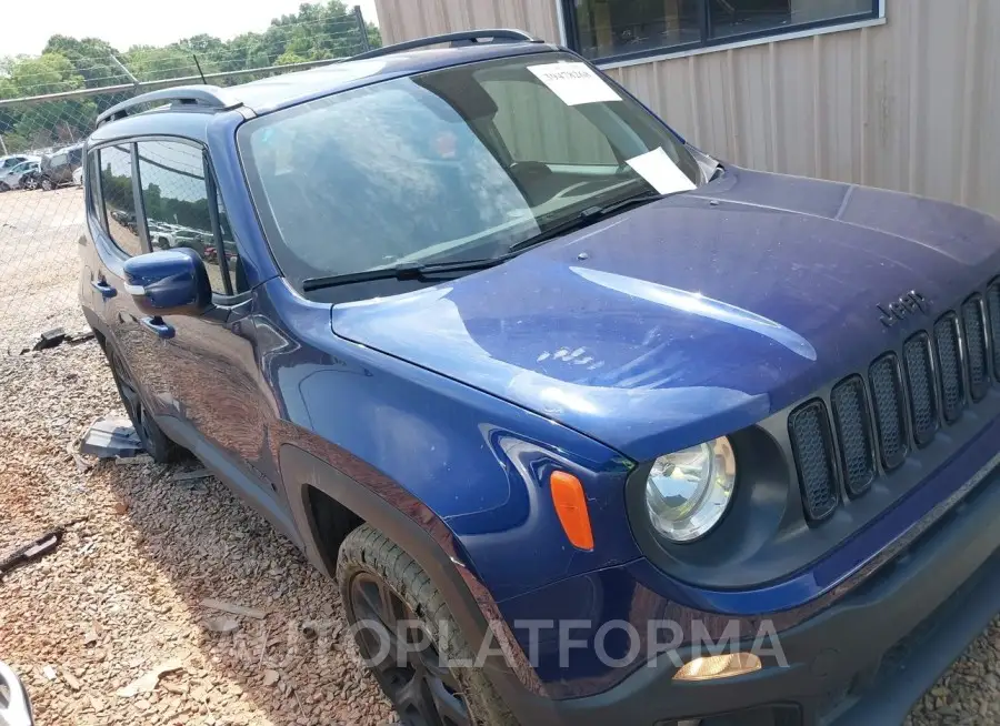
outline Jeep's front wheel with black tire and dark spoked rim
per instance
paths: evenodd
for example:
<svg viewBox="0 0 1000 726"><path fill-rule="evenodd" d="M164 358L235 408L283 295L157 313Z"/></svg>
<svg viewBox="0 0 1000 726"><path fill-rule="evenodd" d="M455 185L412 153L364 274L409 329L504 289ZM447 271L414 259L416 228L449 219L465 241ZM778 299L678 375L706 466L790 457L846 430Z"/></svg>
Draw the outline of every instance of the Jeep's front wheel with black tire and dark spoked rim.
<svg viewBox="0 0 1000 726"><path fill-rule="evenodd" d="M429 647L410 654L404 667L396 667L394 654L390 654L389 661L384 662L391 663L388 667L370 666L402 724L517 726L517 719L481 668L448 668L442 665L449 659L472 663L474 654L466 644L438 588L399 545L374 527L361 525L340 546L337 581L350 624L374 617L392 629L394 623L390 626L386 617L372 613L372 599L377 592L383 612L391 609L397 619L419 621L431 643L440 648L440 653ZM378 649L374 645L377 641L371 636L371 631L361 631L356 637L366 662L372 651ZM418 693L422 704L416 703L412 697ZM426 710L428 707L433 712Z"/></svg>

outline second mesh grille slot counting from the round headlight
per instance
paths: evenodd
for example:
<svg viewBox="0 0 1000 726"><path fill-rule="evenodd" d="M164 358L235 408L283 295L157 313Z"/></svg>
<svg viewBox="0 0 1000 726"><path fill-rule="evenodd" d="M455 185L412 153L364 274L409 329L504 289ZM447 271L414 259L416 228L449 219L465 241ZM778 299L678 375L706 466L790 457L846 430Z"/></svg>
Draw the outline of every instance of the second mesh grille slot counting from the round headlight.
<svg viewBox="0 0 1000 726"><path fill-rule="evenodd" d="M830 393L833 423L840 441L844 484L852 496L862 494L874 480L874 446L871 440L864 383L860 377L839 383Z"/></svg>

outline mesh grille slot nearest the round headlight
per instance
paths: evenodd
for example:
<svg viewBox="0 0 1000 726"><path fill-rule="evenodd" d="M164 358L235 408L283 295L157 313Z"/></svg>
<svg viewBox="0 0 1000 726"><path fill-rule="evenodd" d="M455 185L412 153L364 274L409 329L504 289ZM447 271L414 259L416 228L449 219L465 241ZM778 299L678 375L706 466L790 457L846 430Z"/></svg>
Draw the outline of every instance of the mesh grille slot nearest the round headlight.
<svg viewBox="0 0 1000 726"><path fill-rule="evenodd" d="M788 431L799 468L802 506L810 520L822 520L833 513L839 500L833 441L823 402L810 401L792 412Z"/></svg>

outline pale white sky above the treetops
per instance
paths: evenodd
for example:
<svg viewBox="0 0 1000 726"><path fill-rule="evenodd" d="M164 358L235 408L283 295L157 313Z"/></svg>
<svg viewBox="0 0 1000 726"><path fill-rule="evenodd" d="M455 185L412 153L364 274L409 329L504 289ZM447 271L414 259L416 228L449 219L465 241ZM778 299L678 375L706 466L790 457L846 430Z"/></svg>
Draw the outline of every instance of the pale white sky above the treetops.
<svg viewBox="0 0 1000 726"><path fill-rule="evenodd" d="M0 0L3 33L0 57L37 56L50 36L101 38L118 50L130 46L164 46L199 33L229 40L242 32L261 32L271 18L293 13L302 0ZM347 0L361 6L364 19L378 22L374 0Z"/></svg>

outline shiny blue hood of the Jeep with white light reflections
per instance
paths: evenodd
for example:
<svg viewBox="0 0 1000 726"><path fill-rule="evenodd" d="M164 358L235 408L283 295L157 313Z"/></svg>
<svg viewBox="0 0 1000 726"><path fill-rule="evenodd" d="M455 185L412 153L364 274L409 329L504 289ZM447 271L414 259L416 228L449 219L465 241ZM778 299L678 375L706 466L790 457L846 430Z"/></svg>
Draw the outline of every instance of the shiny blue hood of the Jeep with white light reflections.
<svg viewBox="0 0 1000 726"><path fill-rule="evenodd" d="M332 325L642 461L863 371L998 270L989 216L730 168L498 268L337 305ZM910 291L927 310L887 326L879 306Z"/></svg>

